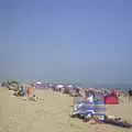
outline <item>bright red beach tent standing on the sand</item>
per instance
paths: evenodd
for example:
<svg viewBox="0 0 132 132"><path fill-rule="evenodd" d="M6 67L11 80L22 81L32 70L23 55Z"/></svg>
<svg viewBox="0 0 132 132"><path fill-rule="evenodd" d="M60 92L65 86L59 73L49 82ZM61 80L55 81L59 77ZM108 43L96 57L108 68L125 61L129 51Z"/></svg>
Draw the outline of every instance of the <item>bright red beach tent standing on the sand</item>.
<svg viewBox="0 0 132 132"><path fill-rule="evenodd" d="M117 96L106 96L105 97L105 103L106 105L118 105L119 98Z"/></svg>

